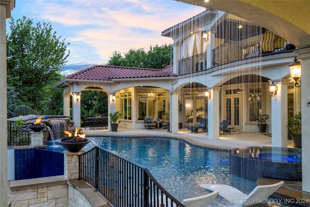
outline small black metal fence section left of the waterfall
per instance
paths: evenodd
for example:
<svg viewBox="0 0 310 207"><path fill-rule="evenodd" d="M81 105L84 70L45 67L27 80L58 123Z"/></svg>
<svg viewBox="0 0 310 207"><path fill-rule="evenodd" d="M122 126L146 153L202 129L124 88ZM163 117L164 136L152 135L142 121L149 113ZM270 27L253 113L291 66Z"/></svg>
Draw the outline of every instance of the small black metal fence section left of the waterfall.
<svg viewBox="0 0 310 207"><path fill-rule="evenodd" d="M29 145L31 133L17 125L8 123L8 146Z"/></svg>

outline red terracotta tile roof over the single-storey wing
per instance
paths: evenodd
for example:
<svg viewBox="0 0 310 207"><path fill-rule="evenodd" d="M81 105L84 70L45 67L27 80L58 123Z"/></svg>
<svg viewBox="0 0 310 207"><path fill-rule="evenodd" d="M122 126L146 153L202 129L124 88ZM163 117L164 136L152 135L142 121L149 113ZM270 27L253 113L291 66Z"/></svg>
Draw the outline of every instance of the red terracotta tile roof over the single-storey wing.
<svg viewBox="0 0 310 207"><path fill-rule="evenodd" d="M173 76L173 66L164 69L93 65L66 77L79 80L111 80L124 78L150 78Z"/></svg>

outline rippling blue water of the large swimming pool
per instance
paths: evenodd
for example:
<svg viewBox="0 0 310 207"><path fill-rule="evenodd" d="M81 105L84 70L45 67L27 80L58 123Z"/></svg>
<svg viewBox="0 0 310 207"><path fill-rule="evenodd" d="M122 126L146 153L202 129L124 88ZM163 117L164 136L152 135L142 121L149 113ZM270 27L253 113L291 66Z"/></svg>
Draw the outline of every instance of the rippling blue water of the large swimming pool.
<svg viewBox="0 0 310 207"><path fill-rule="evenodd" d="M172 138L148 137L87 137L111 152L140 164L150 170L158 182L175 198L185 198L206 194L200 185L217 183L231 185L245 193L252 191L256 183L233 175L230 172L229 152L199 147L182 140ZM89 143L83 150L93 148ZM63 151L61 146L48 149ZM211 207L233 206L222 202L217 196ZM260 204L256 207L267 207L272 204ZM287 206L279 205L275 206Z"/></svg>

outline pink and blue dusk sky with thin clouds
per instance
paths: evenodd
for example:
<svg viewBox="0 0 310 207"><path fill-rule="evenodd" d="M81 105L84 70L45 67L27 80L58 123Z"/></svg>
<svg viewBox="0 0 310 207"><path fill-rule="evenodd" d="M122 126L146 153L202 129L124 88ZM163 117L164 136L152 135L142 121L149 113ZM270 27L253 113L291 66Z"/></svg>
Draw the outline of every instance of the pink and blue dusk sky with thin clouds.
<svg viewBox="0 0 310 207"><path fill-rule="evenodd" d="M161 32L203 11L174 0L16 0L12 16L50 22L70 43L68 64L105 64L114 51L172 43Z"/></svg>

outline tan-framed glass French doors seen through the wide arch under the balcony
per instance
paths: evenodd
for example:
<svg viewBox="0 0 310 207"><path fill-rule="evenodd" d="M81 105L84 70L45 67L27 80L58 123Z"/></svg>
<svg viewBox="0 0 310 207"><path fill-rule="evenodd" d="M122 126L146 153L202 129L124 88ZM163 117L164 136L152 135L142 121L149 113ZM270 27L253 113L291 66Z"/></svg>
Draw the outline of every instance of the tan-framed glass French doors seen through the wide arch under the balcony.
<svg viewBox="0 0 310 207"><path fill-rule="evenodd" d="M240 121L240 95L231 95L225 97L226 114L225 120L230 120L230 126L234 129L241 129Z"/></svg>

